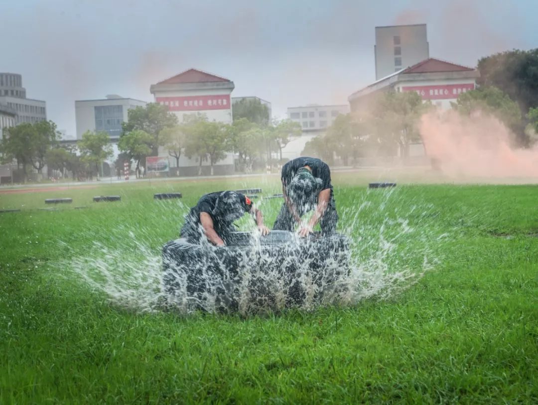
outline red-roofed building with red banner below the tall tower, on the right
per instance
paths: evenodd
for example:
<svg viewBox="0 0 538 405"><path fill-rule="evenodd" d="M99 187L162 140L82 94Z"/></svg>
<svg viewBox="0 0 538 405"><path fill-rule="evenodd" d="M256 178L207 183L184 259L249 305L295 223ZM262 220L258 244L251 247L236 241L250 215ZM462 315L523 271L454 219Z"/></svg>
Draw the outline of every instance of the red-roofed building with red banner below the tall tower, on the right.
<svg viewBox="0 0 538 405"><path fill-rule="evenodd" d="M356 91L348 100L354 112L369 106L371 95L379 91L416 91L424 101L449 109L458 95L475 89L477 77L476 69L430 57Z"/></svg>

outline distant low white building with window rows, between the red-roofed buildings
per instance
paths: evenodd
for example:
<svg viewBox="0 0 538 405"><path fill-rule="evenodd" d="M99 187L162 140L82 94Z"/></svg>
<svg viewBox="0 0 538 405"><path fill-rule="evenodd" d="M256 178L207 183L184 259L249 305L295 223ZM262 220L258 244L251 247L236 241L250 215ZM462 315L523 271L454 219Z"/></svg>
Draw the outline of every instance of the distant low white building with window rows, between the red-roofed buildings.
<svg viewBox="0 0 538 405"><path fill-rule="evenodd" d="M317 105L288 107L288 118L299 122L303 133L324 133L339 114L349 113L349 105Z"/></svg>

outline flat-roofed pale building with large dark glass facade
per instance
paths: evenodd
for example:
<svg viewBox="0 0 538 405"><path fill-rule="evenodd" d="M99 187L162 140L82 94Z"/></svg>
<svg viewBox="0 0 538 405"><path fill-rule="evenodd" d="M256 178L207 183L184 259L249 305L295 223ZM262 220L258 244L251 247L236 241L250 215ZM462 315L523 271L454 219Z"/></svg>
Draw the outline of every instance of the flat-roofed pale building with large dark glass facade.
<svg viewBox="0 0 538 405"><path fill-rule="evenodd" d="M147 103L133 98L108 95L97 100L75 101L76 139L82 139L86 131L105 131L112 141L122 134L122 122L127 121L127 113L136 106Z"/></svg>

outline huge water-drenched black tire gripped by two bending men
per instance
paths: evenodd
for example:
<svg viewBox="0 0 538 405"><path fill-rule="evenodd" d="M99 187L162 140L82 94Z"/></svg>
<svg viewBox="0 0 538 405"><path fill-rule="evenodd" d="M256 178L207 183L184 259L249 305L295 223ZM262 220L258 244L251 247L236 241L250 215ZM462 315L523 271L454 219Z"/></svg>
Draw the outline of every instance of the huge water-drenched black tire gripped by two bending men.
<svg viewBox="0 0 538 405"><path fill-rule="evenodd" d="M188 312L257 312L329 302L349 273L349 240L286 231L265 237L232 233L226 247L185 238L162 248L163 289L172 305Z"/></svg>

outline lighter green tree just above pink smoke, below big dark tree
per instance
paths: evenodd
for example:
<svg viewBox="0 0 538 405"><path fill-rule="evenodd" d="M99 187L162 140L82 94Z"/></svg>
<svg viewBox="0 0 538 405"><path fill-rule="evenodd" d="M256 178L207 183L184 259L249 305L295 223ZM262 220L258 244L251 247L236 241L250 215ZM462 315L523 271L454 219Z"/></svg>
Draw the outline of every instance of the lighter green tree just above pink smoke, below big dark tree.
<svg viewBox="0 0 538 405"><path fill-rule="evenodd" d="M494 115L516 134L519 140L526 143L522 138L523 121L519 106L508 95L493 86L481 87L459 95L452 107L458 112L471 115L477 111L483 111Z"/></svg>

